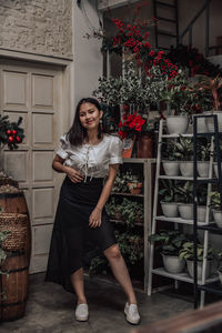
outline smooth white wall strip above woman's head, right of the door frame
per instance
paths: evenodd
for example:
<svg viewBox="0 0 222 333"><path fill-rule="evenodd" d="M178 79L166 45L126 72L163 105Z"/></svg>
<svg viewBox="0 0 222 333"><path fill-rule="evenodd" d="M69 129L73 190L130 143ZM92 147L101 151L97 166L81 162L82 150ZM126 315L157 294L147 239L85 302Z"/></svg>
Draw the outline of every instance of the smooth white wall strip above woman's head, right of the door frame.
<svg viewBox="0 0 222 333"><path fill-rule="evenodd" d="M72 121L78 101L89 97L98 85L102 75L101 40L87 39L83 36L91 33L91 24L99 28L95 0L82 0L80 8L73 1L73 65L71 72L71 97L73 110L70 110Z"/></svg>

